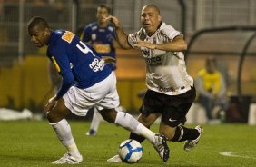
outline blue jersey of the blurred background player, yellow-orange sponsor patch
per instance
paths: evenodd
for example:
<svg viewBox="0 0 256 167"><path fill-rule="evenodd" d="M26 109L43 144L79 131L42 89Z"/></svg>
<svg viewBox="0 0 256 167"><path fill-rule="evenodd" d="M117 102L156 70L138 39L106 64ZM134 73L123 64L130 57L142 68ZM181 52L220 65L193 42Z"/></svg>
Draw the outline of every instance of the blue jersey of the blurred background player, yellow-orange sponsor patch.
<svg viewBox="0 0 256 167"><path fill-rule="evenodd" d="M112 70L116 69L115 48L113 46L114 38L115 34L113 26L107 25L106 27L101 28L96 22L85 26L81 35L81 40L85 43L91 42L95 51L101 57L114 60L114 64L107 64Z"/></svg>

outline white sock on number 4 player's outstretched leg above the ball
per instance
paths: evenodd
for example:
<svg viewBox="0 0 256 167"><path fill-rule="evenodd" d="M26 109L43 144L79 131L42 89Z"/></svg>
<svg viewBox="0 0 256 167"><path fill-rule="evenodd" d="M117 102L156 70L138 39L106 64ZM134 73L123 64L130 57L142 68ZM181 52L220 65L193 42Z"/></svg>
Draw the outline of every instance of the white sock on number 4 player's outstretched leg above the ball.
<svg viewBox="0 0 256 167"><path fill-rule="evenodd" d="M138 122L131 114L117 112L114 123L123 126L132 133L142 135L150 142L154 142L154 134L151 130L146 128L142 123Z"/></svg>

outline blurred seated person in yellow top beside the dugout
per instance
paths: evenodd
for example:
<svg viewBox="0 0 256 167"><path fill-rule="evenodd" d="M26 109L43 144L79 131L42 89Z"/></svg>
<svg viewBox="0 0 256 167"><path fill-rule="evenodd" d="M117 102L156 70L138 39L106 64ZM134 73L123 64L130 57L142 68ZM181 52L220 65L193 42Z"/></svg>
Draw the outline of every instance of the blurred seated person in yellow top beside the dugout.
<svg viewBox="0 0 256 167"><path fill-rule="evenodd" d="M219 114L227 108L226 83L217 69L217 61L213 57L208 57L205 67L199 71L195 79L195 86L198 93L198 101L206 111L209 122L212 121L212 110L218 106Z"/></svg>

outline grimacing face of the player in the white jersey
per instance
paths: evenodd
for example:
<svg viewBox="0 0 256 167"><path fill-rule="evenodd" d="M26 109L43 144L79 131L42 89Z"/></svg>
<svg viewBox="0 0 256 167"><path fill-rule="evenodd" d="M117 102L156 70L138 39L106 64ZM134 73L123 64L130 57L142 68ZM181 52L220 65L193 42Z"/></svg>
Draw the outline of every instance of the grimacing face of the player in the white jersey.
<svg viewBox="0 0 256 167"><path fill-rule="evenodd" d="M161 22L161 16L153 7L144 7L141 14L141 24L147 34L153 34Z"/></svg>

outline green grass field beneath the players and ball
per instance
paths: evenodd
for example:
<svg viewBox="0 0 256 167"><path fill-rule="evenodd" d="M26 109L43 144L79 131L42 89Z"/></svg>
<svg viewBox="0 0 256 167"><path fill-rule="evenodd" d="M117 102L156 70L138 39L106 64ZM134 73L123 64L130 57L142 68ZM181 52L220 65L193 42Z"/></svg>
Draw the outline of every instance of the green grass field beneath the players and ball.
<svg viewBox="0 0 256 167"><path fill-rule="evenodd" d="M183 142L169 142L171 157L163 163L149 142L143 142L143 159L134 164L109 163L119 143L129 133L111 123L102 123L98 135L86 136L88 122L70 122L74 139L84 156L77 166L256 166L256 127L246 124L204 125L202 140L192 152L182 150ZM193 127L193 125L189 125ZM158 124L152 126L154 132ZM51 162L64 155L54 131L46 121L0 122L0 166L56 166ZM222 156L228 152L230 156ZM70 165L61 165L70 166Z"/></svg>

